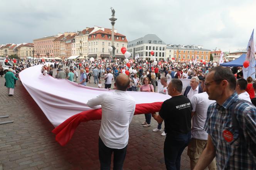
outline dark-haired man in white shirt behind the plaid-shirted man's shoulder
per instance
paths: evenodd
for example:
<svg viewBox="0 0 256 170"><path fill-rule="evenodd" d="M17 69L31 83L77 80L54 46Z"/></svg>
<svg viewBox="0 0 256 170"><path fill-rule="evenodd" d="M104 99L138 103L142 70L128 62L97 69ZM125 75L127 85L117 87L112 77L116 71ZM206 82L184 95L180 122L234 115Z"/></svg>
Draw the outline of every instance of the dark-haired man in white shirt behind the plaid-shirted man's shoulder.
<svg viewBox="0 0 256 170"><path fill-rule="evenodd" d="M245 91L246 87L247 87L247 81L245 79L236 80L236 93L238 94L238 97L242 100L246 100L251 103L250 96Z"/></svg>

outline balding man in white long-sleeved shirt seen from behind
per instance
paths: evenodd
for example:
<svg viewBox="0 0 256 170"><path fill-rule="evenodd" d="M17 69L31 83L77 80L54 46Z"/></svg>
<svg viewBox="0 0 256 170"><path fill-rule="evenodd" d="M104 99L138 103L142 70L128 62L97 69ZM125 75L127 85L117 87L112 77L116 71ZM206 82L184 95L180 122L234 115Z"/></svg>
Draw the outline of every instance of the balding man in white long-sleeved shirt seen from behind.
<svg viewBox="0 0 256 170"><path fill-rule="evenodd" d="M110 170L114 152L114 170L122 170L129 139L129 124L135 111L135 99L127 94L130 79L125 74L116 77L112 93L103 93L87 102L93 109L102 109L99 130L99 162L101 170ZM99 106L101 105L101 107ZM122 107L120 107L122 106Z"/></svg>

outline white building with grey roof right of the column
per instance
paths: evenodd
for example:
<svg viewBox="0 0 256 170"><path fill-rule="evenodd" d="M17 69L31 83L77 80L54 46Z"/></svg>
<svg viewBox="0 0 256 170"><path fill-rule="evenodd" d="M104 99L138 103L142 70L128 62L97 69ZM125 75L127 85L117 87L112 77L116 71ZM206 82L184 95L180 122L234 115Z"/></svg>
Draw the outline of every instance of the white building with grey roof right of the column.
<svg viewBox="0 0 256 170"><path fill-rule="evenodd" d="M166 55L167 45L155 34L147 34L144 37L128 42L127 50L131 53L131 58L135 56L140 56L145 60L155 59L167 61L168 57ZM151 51L154 52L151 55ZM168 52L168 55L169 52Z"/></svg>

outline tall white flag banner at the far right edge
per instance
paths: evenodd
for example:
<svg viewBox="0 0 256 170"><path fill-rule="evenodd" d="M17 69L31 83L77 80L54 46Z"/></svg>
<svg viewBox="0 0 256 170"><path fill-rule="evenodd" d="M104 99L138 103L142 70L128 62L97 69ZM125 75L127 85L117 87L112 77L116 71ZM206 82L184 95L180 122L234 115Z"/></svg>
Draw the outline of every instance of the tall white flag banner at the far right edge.
<svg viewBox="0 0 256 170"><path fill-rule="evenodd" d="M254 32L254 29L253 29ZM254 40L253 40L253 32L251 33L250 40L247 45L247 54L245 61L249 61L249 67L243 67L243 75L244 79L248 77L252 77L255 81L255 50L254 50Z"/></svg>

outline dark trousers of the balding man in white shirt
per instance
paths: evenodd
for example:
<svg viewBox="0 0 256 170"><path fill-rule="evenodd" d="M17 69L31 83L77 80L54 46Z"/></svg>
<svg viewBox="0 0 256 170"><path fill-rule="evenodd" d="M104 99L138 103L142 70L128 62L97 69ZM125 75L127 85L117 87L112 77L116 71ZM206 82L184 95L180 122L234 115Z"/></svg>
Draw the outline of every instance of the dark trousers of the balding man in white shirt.
<svg viewBox="0 0 256 170"><path fill-rule="evenodd" d="M114 152L113 170L123 170L123 163L125 161L127 145L123 149L113 149L104 145L99 137L99 162L101 170L110 170L111 155Z"/></svg>

